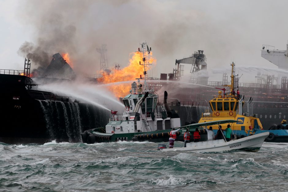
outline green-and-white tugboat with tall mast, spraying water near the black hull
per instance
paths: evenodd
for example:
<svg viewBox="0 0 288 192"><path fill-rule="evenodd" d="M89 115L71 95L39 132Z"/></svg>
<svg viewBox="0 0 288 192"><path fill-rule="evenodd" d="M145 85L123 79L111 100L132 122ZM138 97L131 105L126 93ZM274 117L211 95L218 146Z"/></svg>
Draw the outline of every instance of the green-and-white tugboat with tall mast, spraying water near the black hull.
<svg viewBox="0 0 288 192"><path fill-rule="evenodd" d="M131 84L130 94L123 98L125 109L123 114L111 111L111 118L105 127L86 130L82 133L84 143L115 142L115 141L152 141L169 140L172 128L180 127L179 115L167 104L167 92L164 102L159 103L158 94L148 84L147 58L150 53L147 43L140 44L138 51L143 54L139 64L144 67L144 77ZM142 80L142 83L141 83ZM144 80L144 81L143 81ZM177 140L183 141L185 130L176 132Z"/></svg>

